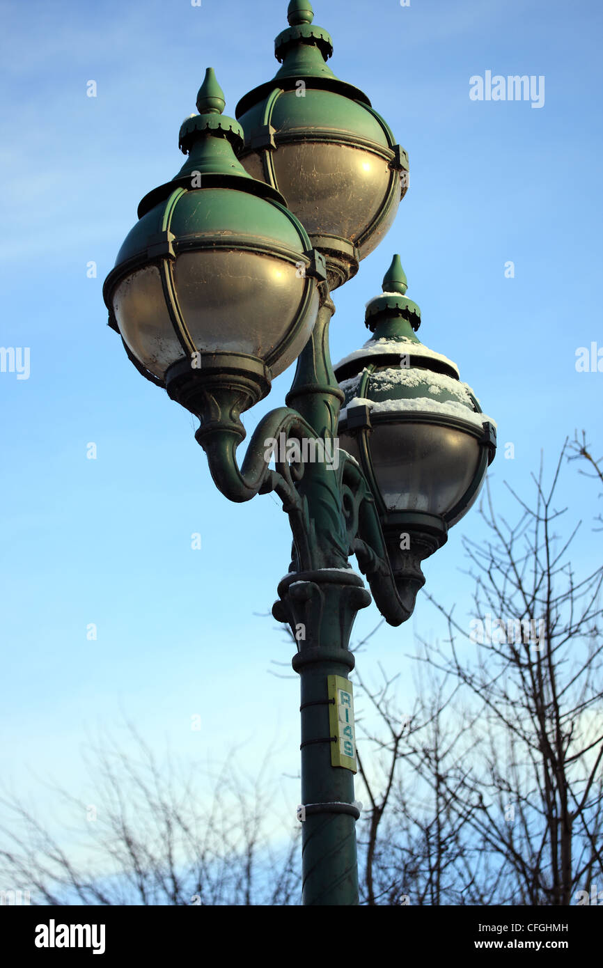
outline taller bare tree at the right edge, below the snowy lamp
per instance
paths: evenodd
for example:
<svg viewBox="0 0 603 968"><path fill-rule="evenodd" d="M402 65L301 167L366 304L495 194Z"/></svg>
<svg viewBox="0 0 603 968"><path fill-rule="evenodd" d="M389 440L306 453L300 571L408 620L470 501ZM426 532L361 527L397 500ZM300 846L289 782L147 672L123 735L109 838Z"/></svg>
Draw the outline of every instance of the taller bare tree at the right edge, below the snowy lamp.
<svg viewBox="0 0 603 968"><path fill-rule="evenodd" d="M567 509L554 500L571 457L603 479L584 437L566 440L548 487L541 462L531 501L509 489L513 525L487 491L489 537L466 542L473 620L467 628L435 602L449 642L426 644L429 663L462 683L479 712L478 756L446 789L497 863L498 903L568 905L603 878L603 565L577 575L569 548L580 523L557 534Z"/></svg>

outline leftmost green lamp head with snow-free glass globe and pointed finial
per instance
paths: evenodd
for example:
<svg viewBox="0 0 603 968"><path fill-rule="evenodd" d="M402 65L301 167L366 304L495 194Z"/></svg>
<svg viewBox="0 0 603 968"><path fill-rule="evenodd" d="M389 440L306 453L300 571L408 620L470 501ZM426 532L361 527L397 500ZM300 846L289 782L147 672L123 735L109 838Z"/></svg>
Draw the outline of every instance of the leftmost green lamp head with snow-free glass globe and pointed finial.
<svg viewBox="0 0 603 968"><path fill-rule="evenodd" d="M180 130L188 160L140 202L104 296L145 377L169 391L229 369L251 406L307 342L324 269L283 197L237 161L242 132L211 68L196 105Z"/></svg>

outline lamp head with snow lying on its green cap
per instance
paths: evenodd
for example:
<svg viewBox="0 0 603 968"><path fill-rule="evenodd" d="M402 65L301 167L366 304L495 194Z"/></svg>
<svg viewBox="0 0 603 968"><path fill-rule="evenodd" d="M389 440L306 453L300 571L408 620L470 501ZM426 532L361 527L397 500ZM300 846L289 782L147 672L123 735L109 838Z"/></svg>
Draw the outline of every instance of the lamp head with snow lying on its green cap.
<svg viewBox="0 0 603 968"><path fill-rule="evenodd" d="M425 583L421 561L477 498L497 433L456 364L417 338L421 313L406 291L395 256L367 306L372 338L335 374L345 394L340 447L369 482L396 584L413 603Z"/></svg>

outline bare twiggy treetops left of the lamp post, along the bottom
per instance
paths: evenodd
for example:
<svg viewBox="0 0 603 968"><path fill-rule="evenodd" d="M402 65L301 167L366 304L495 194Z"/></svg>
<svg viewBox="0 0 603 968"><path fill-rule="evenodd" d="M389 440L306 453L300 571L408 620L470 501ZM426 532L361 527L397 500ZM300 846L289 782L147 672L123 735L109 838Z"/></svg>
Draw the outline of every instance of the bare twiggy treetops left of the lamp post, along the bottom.
<svg viewBox="0 0 603 968"><path fill-rule="evenodd" d="M21 800L0 798L2 890L51 905L296 903L297 832L278 818L275 828L269 758L253 779L229 758L199 782L198 769L182 771L173 757L160 764L135 737L136 756L113 741L93 749L93 803L50 787L71 811L71 831L52 834Z"/></svg>

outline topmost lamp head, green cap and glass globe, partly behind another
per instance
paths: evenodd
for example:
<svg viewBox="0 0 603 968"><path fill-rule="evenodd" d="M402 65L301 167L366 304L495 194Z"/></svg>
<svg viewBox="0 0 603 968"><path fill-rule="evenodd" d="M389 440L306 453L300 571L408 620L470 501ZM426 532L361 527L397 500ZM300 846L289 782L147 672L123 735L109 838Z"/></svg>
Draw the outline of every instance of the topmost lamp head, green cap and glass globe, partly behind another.
<svg viewBox="0 0 603 968"><path fill-rule="evenodd" d="M277 75L237 105L245 168L286 197L342 285L392 225L407 191L407 153L362 91L326 64L333 43L308 0L288 6Z"/></svg>

